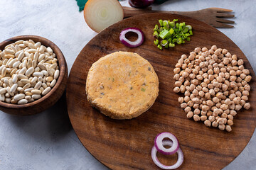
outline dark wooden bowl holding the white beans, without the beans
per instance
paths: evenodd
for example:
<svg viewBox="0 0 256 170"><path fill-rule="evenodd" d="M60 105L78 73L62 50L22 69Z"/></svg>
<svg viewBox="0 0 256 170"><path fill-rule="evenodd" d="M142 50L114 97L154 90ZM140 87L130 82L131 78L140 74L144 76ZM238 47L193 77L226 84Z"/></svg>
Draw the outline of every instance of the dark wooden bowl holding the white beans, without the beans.
<svg viewBox="0 0 256 170"><path fill-rule="evenodd" d="M0 43L0 50L4 50L4 47L6 45L14 43L17 40L33 40L34 42L40 41L42 45L45 45L46 47L51 47L58 59L60 75L57 79L55 86L53 86L53 89L51 89L48 94L46 94L46 96L43 96L36 101L23 105L5 103L0 101L0 110L12 115L33 115L36 113L41 113L47 108L50 108L50 106L53 106L63 95L68 81L68 66L65 62L65 57L63 56L63 53L60 51L57 45L55 45L50 40L47 40L46 38L42 38L36 35L21 35L5 40L4 42Z"/></svg>

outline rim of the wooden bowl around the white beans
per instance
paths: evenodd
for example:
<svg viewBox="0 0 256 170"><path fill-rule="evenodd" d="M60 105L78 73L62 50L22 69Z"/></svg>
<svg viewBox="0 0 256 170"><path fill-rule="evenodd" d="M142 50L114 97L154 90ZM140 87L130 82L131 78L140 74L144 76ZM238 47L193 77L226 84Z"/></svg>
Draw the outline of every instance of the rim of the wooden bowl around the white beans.
<svg viewBox="0 0 256 170"><path fill-rule="evenodd" d="M62 83L63 79L65 78L65 67L67 67L66 63L65 63L65 57L63 55L63 53L61 52L60 48L55 45L55 43L53 43L52 41L48 40L47 38L43 38L41 36L38 35L18 35L15 36L13 38L9 38L7 40L4 40L3 42L0 43L0 50L4 50L4 47L6 47L6 45L9 45L11 43L16 42L17 40L35 40L35 39L39 39L41 44L46 46L46 47L51 47L51 49L53 50L53 52L55 53L57 59L58 59L58 67L60 70L60 75L56 81L55 86L53 86L53 89L50 89L50 91L48 92L48 94L46 94L45 96L37 99L36 101L33 101L31 103L26 103L26 104L12 104L12 103L6 103L4 101L0 101L0 106L5 107L5 108L28 108L31 106L36 106L38 103L41 103L42 101L47 100L52 94L55 93L55 91L60 87L60 84ZM38 42L36 40L36 42ZM62 66L62 67L60 67Z"/></svg>

